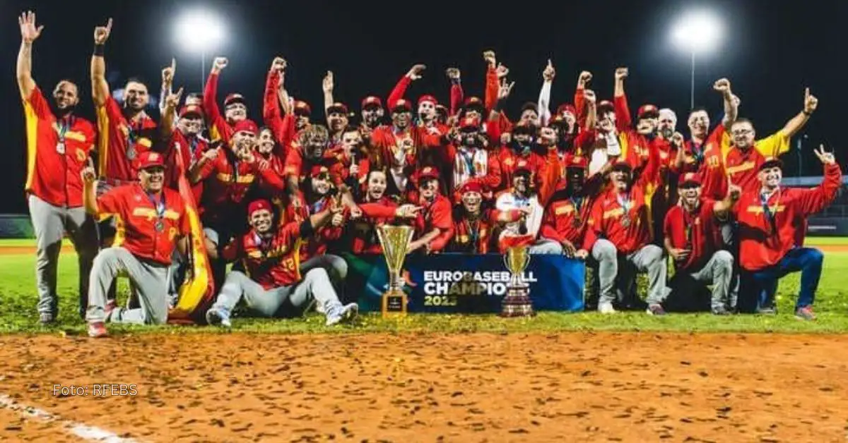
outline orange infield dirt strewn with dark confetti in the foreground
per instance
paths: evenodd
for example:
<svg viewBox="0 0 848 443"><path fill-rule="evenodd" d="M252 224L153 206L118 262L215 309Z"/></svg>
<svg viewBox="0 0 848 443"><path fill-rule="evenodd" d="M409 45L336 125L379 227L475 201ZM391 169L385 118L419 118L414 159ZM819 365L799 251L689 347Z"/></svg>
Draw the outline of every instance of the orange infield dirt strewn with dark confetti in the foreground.
<svg viewBox="0 0 848 443"><path fill-rule="evenodd" d="M0 395L142 441L845 441L843 335L0 337ZM137 385L54 396L53 385ZM71 440L0 408L0 440Z"/></svg>

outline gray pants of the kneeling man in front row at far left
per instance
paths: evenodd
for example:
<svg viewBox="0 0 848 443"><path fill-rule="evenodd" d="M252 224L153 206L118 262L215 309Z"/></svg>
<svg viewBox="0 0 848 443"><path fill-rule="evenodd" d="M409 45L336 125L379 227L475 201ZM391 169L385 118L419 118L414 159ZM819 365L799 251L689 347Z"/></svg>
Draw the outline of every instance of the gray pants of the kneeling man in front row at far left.
<svg viewBox="0 0 848 443"><path fill-rule="evenodd" d="M109 316L114 323L164 324L168 321L168 266L139 260L123 247L108 247L94 258L92 285L88 292L86 320L106 320L103 307L114 279L126 274L136 286L141 307L116 307Z"/></svg>

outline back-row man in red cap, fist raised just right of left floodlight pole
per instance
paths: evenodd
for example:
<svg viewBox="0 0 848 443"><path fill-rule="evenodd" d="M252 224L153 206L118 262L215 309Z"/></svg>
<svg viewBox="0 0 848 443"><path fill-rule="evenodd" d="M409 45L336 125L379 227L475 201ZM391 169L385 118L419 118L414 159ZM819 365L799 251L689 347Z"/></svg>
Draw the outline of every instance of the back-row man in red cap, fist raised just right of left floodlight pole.
<svg viewBox="0 0 848 443"><path fill-rule="evenodd" d="M242 94L237 92L233 92L224 98L224 116L221 117L220 115L218 79L220 71L226 68L229 63L226 57L215 57L204 89L204 111L209 119L209 136L212 140L223 141L226 145L230 144L230 138L234 132L233 126L248 118L248 106L244 102Z"/></svg>

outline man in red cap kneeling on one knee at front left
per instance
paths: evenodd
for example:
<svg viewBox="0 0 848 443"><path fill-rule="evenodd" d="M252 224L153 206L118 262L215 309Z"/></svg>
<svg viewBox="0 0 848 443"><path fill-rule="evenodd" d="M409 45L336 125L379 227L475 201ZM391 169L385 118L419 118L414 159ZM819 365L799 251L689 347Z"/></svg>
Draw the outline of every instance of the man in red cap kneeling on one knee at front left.
<svg viewBox="0 0 848 443"><path fill-rule="evenodd" d="M165 162L159 152L142 152L138 182L116 186L100 197L94 192L92 163L82 170L83 202L93 217L114 214L120 220L111 247L94 258L88 292L88 335L107 335L103 323L164 324L168 320L168 268L176 247L185 254L189 232L186 207L179 192L165 187ZM137 288L141 307L124 309L107 303L106 294L118 274Z"/></svg>

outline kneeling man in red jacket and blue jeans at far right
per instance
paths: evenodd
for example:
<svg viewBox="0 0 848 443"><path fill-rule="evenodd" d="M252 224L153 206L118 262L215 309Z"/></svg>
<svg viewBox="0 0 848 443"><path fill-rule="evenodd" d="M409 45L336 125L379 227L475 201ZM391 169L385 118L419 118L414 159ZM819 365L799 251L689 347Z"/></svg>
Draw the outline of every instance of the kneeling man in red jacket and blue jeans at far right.
<svg viewBox="0 0 848 443"><path fill-rule="evenodd" d="M778 280L801 271L801 290L795 302L795 317L813 320L812 302L822 276L824 255L812 247L797 245L798 232L806 218L834 201L842 181L842 172L832 152L820 147L816 156L824 165L824 180L812 189L780 186L783 163L766 158L760 165L760 190L742 194L734 213L739 220L739 259L744 296L756 296L759 313L776 313L774 294Z"/></svg>

